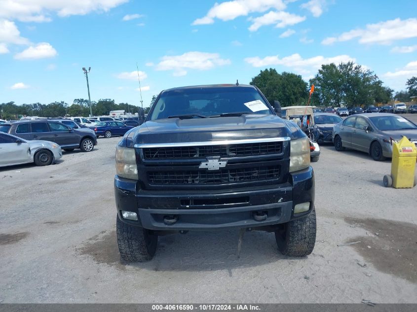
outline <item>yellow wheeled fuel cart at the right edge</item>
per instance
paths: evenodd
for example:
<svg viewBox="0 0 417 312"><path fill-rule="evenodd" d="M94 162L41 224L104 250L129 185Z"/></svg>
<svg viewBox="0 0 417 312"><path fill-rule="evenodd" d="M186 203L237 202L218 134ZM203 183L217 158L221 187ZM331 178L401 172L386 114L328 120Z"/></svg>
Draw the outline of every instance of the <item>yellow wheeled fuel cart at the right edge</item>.
<svg viewBox="0 0 417 312"><path fill-rule="evenodd" d="M415 176L417 160L416 145L403 137L392 146L391 174L385 174L385 187L412 188L417 184Z"/></svg>

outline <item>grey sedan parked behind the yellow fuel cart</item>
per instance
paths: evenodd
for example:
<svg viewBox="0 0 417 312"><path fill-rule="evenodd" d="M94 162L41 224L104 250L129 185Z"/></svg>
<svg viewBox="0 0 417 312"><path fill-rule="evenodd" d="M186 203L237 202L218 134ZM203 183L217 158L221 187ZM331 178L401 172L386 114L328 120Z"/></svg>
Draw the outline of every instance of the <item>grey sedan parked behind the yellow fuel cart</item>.
<svg viewBox="0 0 417 312"><path fill-rule="evenodd" d="M365 113L347 117L332 134L335 148L356 149L369 153L374 160L392 157L391 139L406 136L417 146L417 126L410 120L389 113Z"/></svg>

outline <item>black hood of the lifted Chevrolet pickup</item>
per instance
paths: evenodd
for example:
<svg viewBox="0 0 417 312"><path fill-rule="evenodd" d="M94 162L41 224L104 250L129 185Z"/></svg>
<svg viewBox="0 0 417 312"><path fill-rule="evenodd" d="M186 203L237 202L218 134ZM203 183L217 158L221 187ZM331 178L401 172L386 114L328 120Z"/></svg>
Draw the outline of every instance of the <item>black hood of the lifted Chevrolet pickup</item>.
<svg viewBox="0 0 417 312"><path fill-rule="evenodd" d="M127 133L124 146L149 143L208 142L305 136L295 124L276 115L216 118L167 118L147 121ZM123 141L123 140L122 140Z"/></svg>

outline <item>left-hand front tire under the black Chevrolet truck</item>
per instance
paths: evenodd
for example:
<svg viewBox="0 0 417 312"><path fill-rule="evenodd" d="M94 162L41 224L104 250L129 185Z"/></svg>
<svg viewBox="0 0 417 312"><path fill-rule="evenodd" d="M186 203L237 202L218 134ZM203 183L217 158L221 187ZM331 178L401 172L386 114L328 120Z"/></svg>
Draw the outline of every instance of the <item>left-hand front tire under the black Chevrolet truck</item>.
<svg viewBox="0 0 417 312"><path fill-rule="evenodd" d="M149 230L124 223L116 216L116 236L120 257L124 261L142 262L153 258L158 236Z"/></svg>

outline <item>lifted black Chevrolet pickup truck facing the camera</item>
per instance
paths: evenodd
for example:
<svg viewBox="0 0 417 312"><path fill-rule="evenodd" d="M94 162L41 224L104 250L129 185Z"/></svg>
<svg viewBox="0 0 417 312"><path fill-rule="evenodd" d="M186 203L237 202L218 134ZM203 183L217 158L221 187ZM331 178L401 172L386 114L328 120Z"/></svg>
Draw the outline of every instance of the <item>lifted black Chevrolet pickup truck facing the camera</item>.
<svg viewBox="0 0 417 312"><path fill-rule="evenodd" d="M116 147L117 243L152 259L159 235L226 228L275 233L284 255L316 237L308 138L250 85L162 91ZM140 112L143 116L143 110Z"/></svg>

